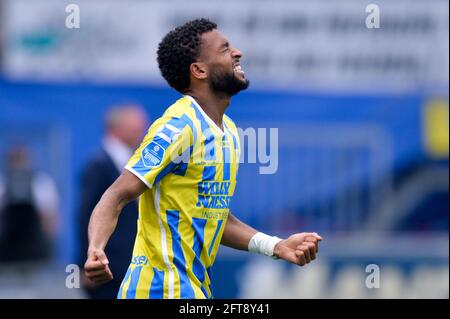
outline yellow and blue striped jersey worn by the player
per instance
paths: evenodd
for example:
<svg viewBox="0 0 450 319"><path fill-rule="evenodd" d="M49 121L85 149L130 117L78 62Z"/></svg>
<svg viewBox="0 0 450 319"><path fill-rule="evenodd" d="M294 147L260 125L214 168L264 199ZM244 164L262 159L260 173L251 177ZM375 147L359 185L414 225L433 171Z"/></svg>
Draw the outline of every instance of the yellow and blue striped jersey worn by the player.
<svg viewBox="0 0 450 319"><path fill-rule="evenodd" d="M212 298L216 258L240 156L226 115L219 128L190 96L150 127L126 169L147 186L133 257L118 298Z"/></svg>

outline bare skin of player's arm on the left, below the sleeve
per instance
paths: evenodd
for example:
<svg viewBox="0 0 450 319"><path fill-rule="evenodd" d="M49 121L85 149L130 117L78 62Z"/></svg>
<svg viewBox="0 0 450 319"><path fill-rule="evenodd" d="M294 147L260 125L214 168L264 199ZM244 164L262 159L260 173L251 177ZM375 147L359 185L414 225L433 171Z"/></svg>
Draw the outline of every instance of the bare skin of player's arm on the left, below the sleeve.
<svg viewBox="0 0 450 319"><path fill-rule="evenodd" d="M138 177L125 170L95 206L89 221L88 257L84 265L86 277L90 280L104 283L113 278L105 255L106 244L123 207L146 189L147 186Z"/></svg>

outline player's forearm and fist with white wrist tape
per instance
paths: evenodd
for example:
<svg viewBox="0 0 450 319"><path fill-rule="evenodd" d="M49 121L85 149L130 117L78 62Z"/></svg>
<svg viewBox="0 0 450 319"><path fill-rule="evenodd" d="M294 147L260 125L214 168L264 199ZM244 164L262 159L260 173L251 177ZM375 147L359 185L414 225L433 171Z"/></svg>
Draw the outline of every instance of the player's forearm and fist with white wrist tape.
<svg viewBox="0 0 450 319"><path fill-rule="evenodd" d="M287 239L268 236L243 223L230 213L221 244L304 266L316 259L321 240L322 237L317 233L297 233Z"/></svg>

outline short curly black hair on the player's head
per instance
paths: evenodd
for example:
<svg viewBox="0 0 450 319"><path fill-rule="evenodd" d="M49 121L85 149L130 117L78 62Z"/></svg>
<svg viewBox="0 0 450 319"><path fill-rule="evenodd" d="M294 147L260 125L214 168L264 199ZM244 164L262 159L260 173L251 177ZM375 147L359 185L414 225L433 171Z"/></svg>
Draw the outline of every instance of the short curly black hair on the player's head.
<svg viewBox="0 0 450 319"><path fill-rule="evenodd" d="M195 19L170 31L159 43L159 70L178 92L184 93L189 88L189 68L200 55L200 36L216 28L217 24L208 19Z"/></svg>

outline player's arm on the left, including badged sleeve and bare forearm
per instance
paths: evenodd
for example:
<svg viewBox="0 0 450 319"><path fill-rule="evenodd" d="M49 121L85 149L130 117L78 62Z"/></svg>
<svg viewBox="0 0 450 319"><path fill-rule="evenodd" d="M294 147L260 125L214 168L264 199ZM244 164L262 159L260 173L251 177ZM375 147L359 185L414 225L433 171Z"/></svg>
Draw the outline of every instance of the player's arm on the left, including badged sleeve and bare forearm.
<svg viewBox="0 0 450 319"><path fill-rule="evenodd" d="M84 267L87 278L96 283L112 279L105 247L120 212L183 160L189 161L194 140L193 131L185 120L165 117L153 123L124 173L103 194L92 212L88 227L88 258Z"/></svg>

